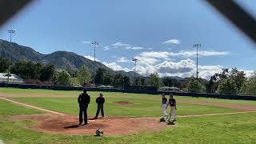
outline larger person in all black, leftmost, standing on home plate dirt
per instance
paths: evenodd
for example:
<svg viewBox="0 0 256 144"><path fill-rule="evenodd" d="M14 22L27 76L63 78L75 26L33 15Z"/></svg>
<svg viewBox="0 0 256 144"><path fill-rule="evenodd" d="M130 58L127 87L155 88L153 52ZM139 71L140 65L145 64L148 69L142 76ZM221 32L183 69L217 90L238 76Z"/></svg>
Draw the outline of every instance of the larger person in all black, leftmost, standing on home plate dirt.
<svg viewBox="0 0 256 144"><path fill-rule="evenodd" d="M88 120L87 120L87 108L88 105L90 103L90 95L87 94L87 90L84 89L83 93L79 95L78 97L78 104L79 104L79 124L78 125L82 125L82 113L84 115L84 122L85 125L89 124Z"/></svg>

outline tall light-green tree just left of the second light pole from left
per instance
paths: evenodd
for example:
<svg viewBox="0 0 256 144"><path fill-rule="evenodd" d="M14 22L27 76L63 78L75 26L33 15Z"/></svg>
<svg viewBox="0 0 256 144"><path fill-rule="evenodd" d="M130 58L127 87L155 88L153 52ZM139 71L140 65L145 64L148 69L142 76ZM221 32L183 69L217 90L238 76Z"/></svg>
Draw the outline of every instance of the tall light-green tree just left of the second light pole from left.
<svg viewBox="0 0 256 144"><path fill-rule="evenodd" d="M78 80L81 86L85 86L87 83L90 82L90 70L86 65L82 65L81 68L78 70Z"/></svg>

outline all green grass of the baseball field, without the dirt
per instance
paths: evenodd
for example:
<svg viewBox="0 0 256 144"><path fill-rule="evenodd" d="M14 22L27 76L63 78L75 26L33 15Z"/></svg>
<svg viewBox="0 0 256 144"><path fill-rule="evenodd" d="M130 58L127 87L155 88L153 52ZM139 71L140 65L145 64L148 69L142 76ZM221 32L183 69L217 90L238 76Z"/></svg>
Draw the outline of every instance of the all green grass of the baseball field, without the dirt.
<svg viewBox="0 0 256 144"><path fill-rule="evenodd" d="M8 89L6 89L8 91ZM11 92L11 90L13 92ZM25 92L24 92L25 91ZM22 93L28 93L26 90ZM33 94L46 94L54 90L32 90ZM10 94L17 92L9 90ZM40 93L38 93L40 92ZM56 94L62 94L60 91ZM60 92L60 93L59 93ZM66 91L64 91L66 92ZM74 94L75 91L70 91ZM0 89L0 93L2 89ZM80 91L75 92L77 94ZM90 92L89 92L90 93ZM18 94L18 93L16 93ZM52 94L52 93L49 93ZM98 94L98 92L90 93ZM107 95L106 93L105 95ZM119 97L122 93L110 93ZM128 96L127 96L128 95ZM116 116L158 116L161 114L159 97L149 94L126 94L129 98L106 98L106 114ZM177 99L193 99L198 101L222 102L212 98L176 97ZM77 98L14 98L20 102L27 102L42 108L56 110L68 114L77 114ZM114 104L116 101L134 102L131 106ZM229 100L223 100L231 102ZM232 101L233 102L233 101ZM236 101L234 101L236 102ZM238 101L242 102L242 101ZM247 101L246 101L247 102ZM250 102L250 101L249 101ZM243 104L243 103L242 103ZM247 103L251 105L251 103ZM96 110L95 98L91 98L89 114ZM234 111L216 106L201 106L178 103L178 114L209 114ZM7 115L40 114L18 106L11 102L0 100L0 141L6 143L255 143L256 142L256 113L229 114L204 116L194 118L178 118L176 125L154 133L133 134L130 136L104 136L96 138L93 135L62 135L46 134L28 130L24 126L35 125L30 120L10 119Z"/></svg>

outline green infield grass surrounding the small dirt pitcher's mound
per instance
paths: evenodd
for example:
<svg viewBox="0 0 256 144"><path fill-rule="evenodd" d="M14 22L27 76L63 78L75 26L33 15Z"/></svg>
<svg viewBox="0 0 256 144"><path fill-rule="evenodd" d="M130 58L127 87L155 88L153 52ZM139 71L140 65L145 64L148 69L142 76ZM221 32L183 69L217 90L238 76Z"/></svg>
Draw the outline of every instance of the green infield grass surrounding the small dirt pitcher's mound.
<svg viewBox="0 0 256 144"><path fill-rule="evenodd" d="M47 110L55 110L66 114L78 114L77 98L13 98L18 102L39 106ZM129 106L118 105L115 102L127 101L134 103ZM106 98L105 113L114 116L159 116L161 115L161 102L140 98ZM94 115L96 111L95 98L91 98L88 114ZM239 110L222 108L217 106L203 106L186 103L178 103L177 114L212 114L235 112ZM168 109L169 111L170 109Z"/></svg>

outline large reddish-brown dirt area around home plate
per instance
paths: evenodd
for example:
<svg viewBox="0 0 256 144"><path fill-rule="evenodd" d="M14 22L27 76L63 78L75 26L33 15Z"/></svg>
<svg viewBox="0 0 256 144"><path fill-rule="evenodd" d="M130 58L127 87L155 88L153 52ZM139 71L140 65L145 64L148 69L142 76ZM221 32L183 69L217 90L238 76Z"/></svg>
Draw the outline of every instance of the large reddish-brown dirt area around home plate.
<svg viewBox="0 0 256 144"><path fill-rule="evenodd" d="M165 123L155 118L117 118L107 117L89 120L90 124L78 126L78 117L73 115L18 115L15 119L27 119L38 122L36 126L29 126L32 130L50 132L53 134L95 134L101 129L104 135L138 134L153 132L166 127Z"/></svg>

